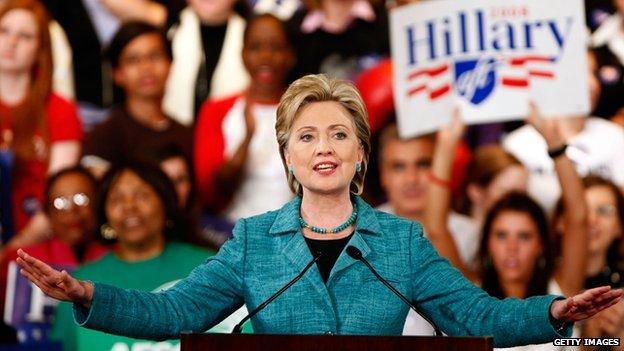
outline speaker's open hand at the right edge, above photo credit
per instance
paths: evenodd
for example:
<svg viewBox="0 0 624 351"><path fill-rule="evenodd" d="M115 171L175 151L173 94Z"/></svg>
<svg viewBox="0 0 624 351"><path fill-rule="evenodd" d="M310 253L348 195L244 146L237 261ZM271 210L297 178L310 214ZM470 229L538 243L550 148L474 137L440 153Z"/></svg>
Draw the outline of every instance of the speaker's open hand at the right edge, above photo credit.
<svg viewBox="0 0 624 351"><path fill-rule="evenodd" d="M565 300L556 300L550 305L552 316L565 322L578 322L618 303L623 296L621 289L601 286L586 290Z"/></svg>

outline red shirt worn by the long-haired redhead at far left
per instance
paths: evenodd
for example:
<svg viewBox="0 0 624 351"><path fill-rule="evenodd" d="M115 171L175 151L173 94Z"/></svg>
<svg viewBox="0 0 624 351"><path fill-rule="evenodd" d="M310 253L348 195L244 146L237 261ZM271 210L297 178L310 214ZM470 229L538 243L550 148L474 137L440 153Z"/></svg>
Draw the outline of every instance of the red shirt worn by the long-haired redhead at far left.
<svg viewBox="0 0 624 351"><path fill-rule="evenodd" d="M46 105L47 130L36 131L33 136L36 155L29 160L13 163L12 205L15 231L21 230L30 217L42 207L45 180L48 170L49 147L43 142L48 138L50 144L59 141L81 141L82 124L78 118L78 109L73 102L52 93ZM14 108L0 101L0 136L13 130ZM0 141L2 138L0 137ZM0 147L6 147L0 142ZM10 147L10 146L9 146Z"/></svg>

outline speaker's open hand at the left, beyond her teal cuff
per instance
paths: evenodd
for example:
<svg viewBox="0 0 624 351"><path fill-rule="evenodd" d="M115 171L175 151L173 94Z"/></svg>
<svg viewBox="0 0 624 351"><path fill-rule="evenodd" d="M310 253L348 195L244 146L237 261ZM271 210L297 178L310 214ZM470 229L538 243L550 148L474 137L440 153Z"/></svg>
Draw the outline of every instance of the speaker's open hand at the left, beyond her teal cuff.
<svg viewBox="0 0 624 351"><path fill-rule="evenodd" d="M22 268L20 273L37 285L46 295L57 300L70 301L86 308L91 307L93 300L93 284L80 281L67 273L57 271L24 250L17 250L17 264Z"/></svg>

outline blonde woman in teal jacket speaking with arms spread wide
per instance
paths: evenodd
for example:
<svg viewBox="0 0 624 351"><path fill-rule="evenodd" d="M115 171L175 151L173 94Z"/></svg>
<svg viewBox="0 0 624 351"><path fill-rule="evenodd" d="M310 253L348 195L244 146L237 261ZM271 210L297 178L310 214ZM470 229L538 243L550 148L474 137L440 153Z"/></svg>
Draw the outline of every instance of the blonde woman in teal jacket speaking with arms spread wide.
<svg viewBox="0 0 624 351"><path fill-rule="evenodd" d="M298 196L238 221L234 238L171 289L146 293L79 281L20 251L22 274L48 295L72 301L80 325L147 339L205 331L243 304L255 309L302 272L251 319L255 332L400 335L407 305L347 251L360 253L445 333L490 335L496 347L570 335L573 322L622 297L609 287L567 299L490 297L438 256L419 223L372 209L357 196L370 131L349 83L323 75L294 82L280 101L276 132Z"/></svg>

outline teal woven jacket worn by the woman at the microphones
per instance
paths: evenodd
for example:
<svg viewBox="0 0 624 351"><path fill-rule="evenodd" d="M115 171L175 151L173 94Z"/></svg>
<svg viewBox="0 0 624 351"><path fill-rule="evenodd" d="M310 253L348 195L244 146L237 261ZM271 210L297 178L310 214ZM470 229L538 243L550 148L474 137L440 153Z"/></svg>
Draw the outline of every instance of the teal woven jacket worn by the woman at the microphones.
<svg viewBox="0 0 624 351"><path fill-rule="evenodd" d="M423 237L422 226L371 208L359 197L359 248L379 273L449 335L493 336L496 347L539 344L558 334L549 321L556 296L499 300L466 280ZM161 293L95 283L85 327L144 339L202 332L246 304L253 310L303 270L312 255L301 234L297 197L277 211L242 219L206 263ZM408 307L344 251L327 283L316 267L251 322L257 333L400 335Z"/></svg>

